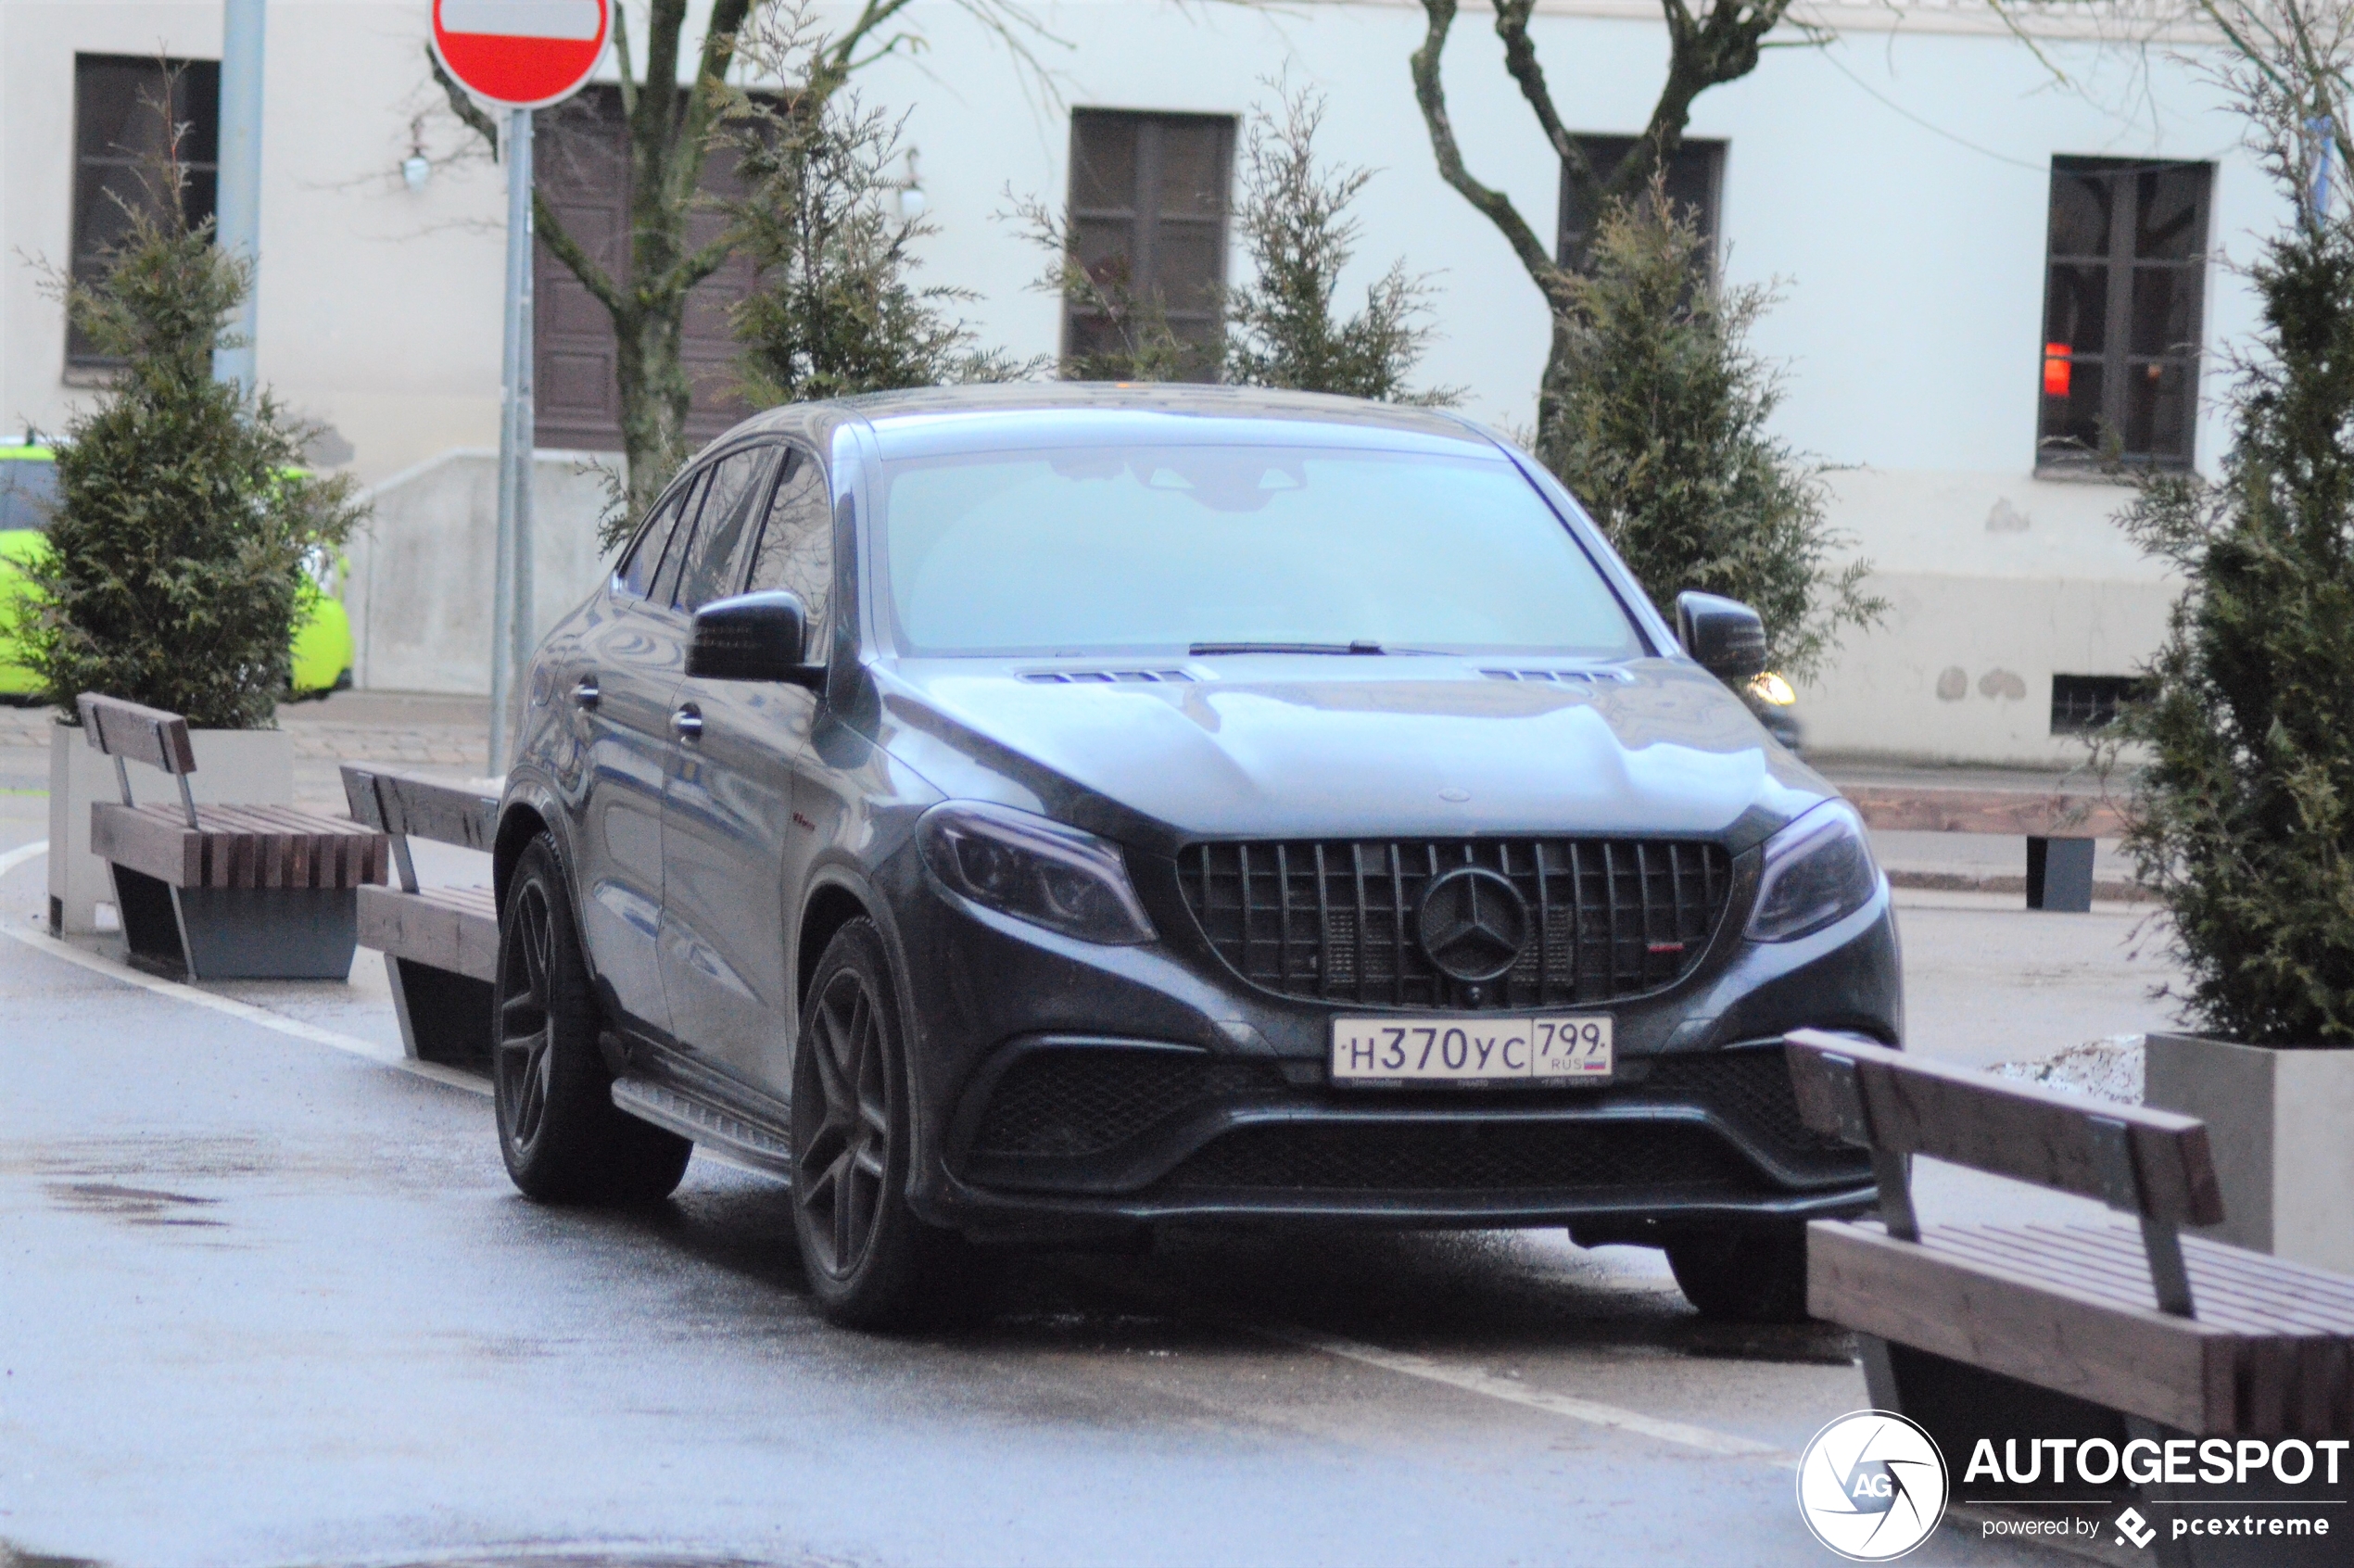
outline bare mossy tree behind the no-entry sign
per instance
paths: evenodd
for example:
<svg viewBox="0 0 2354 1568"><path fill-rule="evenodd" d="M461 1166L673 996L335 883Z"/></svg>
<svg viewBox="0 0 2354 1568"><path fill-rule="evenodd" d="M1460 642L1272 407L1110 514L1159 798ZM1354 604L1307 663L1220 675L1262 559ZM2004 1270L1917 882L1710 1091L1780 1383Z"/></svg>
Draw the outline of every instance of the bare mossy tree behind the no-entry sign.
<svg viewBox="0 0 2354 1568"><path fill-rule="evenodd" d="M629 127L629 257L607 271L565 228L544 195L532 195L532 221L548 247L591 299L605 306L617 341L614 381L621 393L621 454L629 469L629 511L643 513L687 459L687 410L694 386L680 356L687 294L716 273L742 245L727 226L697 245L690 219L699 200L704 165L718 141L734 92L727 71L737 61L737 35L772 0L713 0L701 45L694 45L694 78L680 85L680 59L690 47L687 0L647 0L643 59L629 35L629 7L617 5L614 54L621 64L621 118ZM949 0L982 21L1019 61L1036 68L1031 38L1045 38L1038 19L1019 0ZM913 0L864 0L857 16L810 52L807 75L784 89L784 99L817 115L852 73L892 54L923 47L906 26ZM805 9L805 0L793 7ZM426 49L433 75L459 120L497 148L499 127Z"/></svg>

